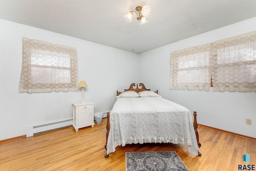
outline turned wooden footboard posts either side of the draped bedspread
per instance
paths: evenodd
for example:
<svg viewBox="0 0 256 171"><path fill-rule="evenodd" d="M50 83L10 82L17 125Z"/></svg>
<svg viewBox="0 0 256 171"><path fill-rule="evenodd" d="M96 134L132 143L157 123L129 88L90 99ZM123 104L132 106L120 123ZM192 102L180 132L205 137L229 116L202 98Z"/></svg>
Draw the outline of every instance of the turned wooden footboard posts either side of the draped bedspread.
<svg viewBox="0 0 256 171"><path fill-rule="evenodd" d="M194 122L193 122L193 126L194 126L194 130L195 130L195 133L196 133L196 141L197 141L197 144L198 144L198 147L200 148L201 147L201 143L199 142L199 135L198 135L198 131L197 131L197 128L198 128L198 124L197 124L197 120L196 120L196 111L194 111L193 113L194 115ZM108 134L109 134L109 130L110 130L110 112L107 113L107 125L106 125L106 129L107 129L107 133L106 133L106 144L105 144L105 149L107 150L107 144L108 144ZM198 151L198 156L201 156L202 154ZM105 154L105 158L108 158L109 154L107 155L107 153Z"/></svg>

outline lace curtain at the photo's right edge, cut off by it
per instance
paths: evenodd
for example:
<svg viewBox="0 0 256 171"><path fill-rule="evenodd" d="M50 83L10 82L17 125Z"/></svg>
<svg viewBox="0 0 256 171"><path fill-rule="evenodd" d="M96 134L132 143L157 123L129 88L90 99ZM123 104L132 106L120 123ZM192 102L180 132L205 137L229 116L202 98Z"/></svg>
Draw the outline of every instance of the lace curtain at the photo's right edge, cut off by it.
<svg viewBox="0 0 256 171"><path fill-rule="evenodd" d="M219 40L211 49L214 91L256 91L256 32Z"/></svg>

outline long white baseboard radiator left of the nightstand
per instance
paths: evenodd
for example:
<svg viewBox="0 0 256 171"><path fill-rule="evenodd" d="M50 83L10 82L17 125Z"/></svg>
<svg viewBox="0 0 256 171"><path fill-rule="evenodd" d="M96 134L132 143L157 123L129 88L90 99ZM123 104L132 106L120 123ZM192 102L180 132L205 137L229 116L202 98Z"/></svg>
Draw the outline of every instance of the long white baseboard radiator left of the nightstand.
<svg viewBox="0 0 256 171"><path fill-rule="evenodd" d="M43 125L37 125L33 127L27 127L26 128L27 137L32 137L34 134L44 133L44 132L52 131L54 129L67 127L72 125L72 123L73 123L73 119L68 119L64 121L58 121L58 122L47 123Z"/></svg>

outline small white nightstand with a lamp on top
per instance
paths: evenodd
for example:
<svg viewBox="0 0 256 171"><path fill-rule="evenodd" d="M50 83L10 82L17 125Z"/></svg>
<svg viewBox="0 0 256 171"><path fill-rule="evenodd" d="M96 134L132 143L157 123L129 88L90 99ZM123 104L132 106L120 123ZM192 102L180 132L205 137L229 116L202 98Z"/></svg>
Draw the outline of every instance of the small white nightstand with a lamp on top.
<svg viewBox="0 0 256 171"><path fill-rule="evenodd" d="M72 103L73 105L73 127L76 131L79 128L94 127L94 103Z"/></svg>

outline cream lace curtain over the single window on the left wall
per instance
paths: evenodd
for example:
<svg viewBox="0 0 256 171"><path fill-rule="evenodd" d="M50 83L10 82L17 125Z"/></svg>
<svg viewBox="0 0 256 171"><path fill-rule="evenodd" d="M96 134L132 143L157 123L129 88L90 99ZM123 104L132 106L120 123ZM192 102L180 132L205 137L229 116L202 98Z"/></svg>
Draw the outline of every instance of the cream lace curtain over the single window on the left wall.
<svg viewBox="0 0 256 171"><path fill-rule="evenodd" d="M76 91L76 48L22 38L19 92Z"/></svg>

